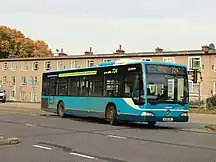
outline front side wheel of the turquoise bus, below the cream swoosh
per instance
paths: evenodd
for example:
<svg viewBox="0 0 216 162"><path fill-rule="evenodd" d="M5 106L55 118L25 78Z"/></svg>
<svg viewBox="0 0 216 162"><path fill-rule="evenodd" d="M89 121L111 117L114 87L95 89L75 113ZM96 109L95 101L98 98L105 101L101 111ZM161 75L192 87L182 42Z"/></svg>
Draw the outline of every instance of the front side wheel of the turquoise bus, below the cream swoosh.
<svg viewBox="0 0 216 162"><path fill-rule="evenodd" d="M114 105L109 105L106 110L106 117L109 119L111 125L117 125L117 112Z"/></svg>

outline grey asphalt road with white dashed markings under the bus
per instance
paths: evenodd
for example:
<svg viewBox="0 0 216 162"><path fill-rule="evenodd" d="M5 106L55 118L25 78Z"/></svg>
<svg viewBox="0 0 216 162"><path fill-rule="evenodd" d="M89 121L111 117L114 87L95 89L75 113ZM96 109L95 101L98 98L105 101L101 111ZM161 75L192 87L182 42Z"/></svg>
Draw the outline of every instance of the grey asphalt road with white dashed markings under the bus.
<svg viewBox="0 0 216 162"><path fill-rule="evenodd" d="M216 134L201 123L110 126L101 120L40 115L38 107L0 106L0 135L18 137L0 146L4 162L214 162Z"/></svg>

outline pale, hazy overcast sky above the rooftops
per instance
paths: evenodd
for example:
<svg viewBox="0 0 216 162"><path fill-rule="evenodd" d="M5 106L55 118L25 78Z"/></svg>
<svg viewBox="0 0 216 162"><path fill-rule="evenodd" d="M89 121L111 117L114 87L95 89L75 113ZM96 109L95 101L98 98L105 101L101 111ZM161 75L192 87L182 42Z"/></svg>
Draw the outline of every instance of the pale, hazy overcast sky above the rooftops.
<svg viewBox="0 0 216 162"><path fill-rule="evenodd" d="M216 44L214 0L0 0L0 25L68 54Z"/></svg>

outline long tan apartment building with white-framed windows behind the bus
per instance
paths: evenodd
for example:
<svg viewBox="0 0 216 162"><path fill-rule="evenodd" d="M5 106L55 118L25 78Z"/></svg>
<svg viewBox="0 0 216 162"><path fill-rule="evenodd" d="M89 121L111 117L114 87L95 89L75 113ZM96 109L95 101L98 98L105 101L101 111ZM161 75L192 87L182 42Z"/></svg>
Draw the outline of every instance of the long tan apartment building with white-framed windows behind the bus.
<svg viewBox="0 0 216 162"><path fill-rule="evenodd" d="M0 87L7 93L7 100L40 102L42 73L49 70L79 68L98 65L102 61L131 58L144 61L166 61L186 64L188 70L201 70L202 82L189 81L190 99L199 96L206 99L216 93L216 50L202 46L200 50L125 53L121 48L112 54L93 54L91 49L84 55L55 56L45 58L0 59Z"/></svg>

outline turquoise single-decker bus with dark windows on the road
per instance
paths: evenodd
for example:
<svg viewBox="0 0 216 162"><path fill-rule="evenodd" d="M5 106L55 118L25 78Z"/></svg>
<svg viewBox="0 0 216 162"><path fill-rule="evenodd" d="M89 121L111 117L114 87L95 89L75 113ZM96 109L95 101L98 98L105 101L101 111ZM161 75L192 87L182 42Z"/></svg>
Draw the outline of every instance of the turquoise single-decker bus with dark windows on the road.
<svg viewBox="0 0 216 162"><path fill-rule="evenodd" d="M187 122L186 65L132 59L98 66L44 72L41 109L59 117L103 118L119 122Z"/></svg>

